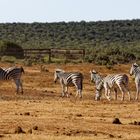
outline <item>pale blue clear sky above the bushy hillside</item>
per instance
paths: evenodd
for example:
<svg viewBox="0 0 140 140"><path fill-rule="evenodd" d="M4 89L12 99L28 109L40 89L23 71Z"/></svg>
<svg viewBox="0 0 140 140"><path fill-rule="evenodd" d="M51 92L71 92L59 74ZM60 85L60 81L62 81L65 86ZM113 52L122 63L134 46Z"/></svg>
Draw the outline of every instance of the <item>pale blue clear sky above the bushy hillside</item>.
<svg viewBox="0 0 140 140"><path fill-rule="evenodd" d="M140 0L0 0L0 23L140 19Z"/></svg>

